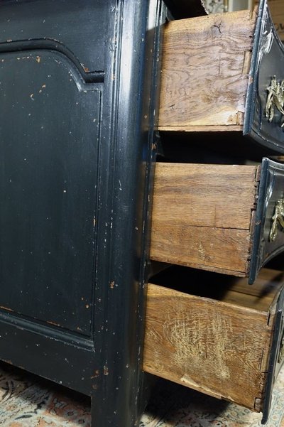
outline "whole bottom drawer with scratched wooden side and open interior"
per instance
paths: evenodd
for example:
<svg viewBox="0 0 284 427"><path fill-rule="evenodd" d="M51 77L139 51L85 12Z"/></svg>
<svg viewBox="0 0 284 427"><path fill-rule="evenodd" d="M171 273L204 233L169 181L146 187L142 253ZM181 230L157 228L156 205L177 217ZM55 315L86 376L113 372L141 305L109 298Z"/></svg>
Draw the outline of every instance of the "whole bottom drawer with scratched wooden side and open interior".
<svg viewBox="0 0 284 427"><path fill-rule="evenodd" d="M283 283L270 269L253 286L182 267L159 274L148 285L143 369L266 421L284 356Z"/></svg>

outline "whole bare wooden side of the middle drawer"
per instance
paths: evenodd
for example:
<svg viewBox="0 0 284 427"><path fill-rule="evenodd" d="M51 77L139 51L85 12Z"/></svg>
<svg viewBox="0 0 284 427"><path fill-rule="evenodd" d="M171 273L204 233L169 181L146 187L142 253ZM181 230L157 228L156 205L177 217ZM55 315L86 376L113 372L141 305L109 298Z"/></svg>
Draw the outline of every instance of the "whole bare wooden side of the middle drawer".
<svg viewBox="0 0 284 427"><path fill-rule="evenodd" d="M151 259L245 276L256 166L157 163Z"/></svg>

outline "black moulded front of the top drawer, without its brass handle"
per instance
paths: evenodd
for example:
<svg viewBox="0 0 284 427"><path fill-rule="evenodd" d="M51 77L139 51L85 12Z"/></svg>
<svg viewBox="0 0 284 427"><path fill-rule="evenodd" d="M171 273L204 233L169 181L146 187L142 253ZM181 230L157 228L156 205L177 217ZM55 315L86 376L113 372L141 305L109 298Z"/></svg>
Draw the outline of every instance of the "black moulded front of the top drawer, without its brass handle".
<svg viewBox="0 0 284 427"><path fill-rule="evenodd" d="M278 82L284 80L284 46L273 26L267 0L261 0L253 38L244 135L270 150L284 153L283 115L275 108L275 117L270 122L265 112L273 76Z"/></svg>

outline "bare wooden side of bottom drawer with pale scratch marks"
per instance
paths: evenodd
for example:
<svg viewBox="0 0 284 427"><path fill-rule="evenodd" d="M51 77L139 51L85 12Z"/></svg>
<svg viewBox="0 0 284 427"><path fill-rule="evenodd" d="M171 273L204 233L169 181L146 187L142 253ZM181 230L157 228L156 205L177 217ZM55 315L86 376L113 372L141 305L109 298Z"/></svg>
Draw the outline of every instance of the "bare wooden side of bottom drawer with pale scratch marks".
<svg viewBox="0 0 284 427"><path fill-rule="evenodd" d="M275 286L274 297L279 290ZM246 294L235 294L231 304L150 284L143 369L261 411L273 306L247 308Z"/></svg>

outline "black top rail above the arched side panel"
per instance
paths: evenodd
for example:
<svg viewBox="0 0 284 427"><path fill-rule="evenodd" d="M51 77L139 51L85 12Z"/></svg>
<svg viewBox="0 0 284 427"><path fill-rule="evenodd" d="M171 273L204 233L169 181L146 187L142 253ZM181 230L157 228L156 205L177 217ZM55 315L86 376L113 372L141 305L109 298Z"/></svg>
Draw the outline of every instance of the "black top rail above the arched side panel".
<svg viewBox="0 0 284 427"><path fill-rule="evenodd" d="M6 42L51 40L77 58L86 72L103 71L108 11L106 0L1 1L0 49Z"/></svg>

